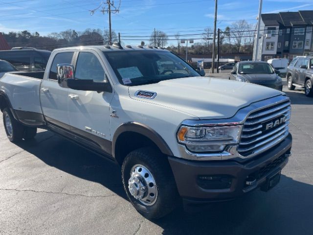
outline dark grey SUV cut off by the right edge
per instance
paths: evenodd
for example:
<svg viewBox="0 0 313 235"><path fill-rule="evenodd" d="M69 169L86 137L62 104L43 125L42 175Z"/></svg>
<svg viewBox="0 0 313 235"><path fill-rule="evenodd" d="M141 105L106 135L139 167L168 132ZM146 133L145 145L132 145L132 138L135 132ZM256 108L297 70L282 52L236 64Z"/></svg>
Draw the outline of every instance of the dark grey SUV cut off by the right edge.
<svg viewBox="0 0 313 235"><path fill-rule="evenodd" d="M297 56L287 68L289 90L304 88L306 96L313 96L313 56Z"/></svg>

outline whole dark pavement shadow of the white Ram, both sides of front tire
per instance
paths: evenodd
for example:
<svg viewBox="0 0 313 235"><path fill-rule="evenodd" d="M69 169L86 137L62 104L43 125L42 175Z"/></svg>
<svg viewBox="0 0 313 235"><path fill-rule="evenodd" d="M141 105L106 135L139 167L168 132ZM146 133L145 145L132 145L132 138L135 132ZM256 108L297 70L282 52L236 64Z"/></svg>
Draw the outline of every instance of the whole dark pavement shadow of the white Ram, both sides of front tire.
<svg viewBox="0 0 313 235"><path fill-rule="evenodd" d="M50 166L97 182L126 199L120 167L70 141L46 131L19 146ZM164 235L312 234L312 196L312 185L282 175L281 182L268 193L256 190L234 201L209 204L197 213L180 208L152 222Z"/></svg>

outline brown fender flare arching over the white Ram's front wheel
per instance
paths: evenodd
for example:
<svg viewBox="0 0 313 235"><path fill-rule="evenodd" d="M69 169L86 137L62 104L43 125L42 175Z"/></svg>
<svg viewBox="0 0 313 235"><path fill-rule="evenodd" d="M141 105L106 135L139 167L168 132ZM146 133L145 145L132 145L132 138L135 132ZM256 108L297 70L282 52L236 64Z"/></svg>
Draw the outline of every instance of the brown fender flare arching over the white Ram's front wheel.
<svg viewBox="0 0 313 235"><path fill-rule="evenodd" d="M112 155L114 158L116 141L118 137L125 132L135 132L141 134L153 141L163 154L174 156L167 143L155 130L139 122L125 122L116 129L112 139Z"/></svg>

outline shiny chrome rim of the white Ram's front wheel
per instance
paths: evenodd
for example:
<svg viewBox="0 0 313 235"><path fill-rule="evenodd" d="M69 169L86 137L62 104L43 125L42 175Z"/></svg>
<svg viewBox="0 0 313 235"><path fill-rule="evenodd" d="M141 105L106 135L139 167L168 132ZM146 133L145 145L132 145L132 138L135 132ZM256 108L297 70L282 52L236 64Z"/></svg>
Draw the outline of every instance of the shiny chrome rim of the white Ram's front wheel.
<svg viewBox="0 0 313 235"><path fill-rule="evenodd" d="M144 165L136 164L132 167L128 189L131 195L142 204L152 206L156 203L156 181Z"/></svg>

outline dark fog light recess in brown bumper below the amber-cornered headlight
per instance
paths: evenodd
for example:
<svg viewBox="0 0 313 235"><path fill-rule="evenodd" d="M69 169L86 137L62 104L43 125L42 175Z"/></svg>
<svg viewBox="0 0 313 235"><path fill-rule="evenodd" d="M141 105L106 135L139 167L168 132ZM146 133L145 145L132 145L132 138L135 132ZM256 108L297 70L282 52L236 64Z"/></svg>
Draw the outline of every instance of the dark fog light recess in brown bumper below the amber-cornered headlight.
<svg viewBox="0 0 313 235"><path fill-rule="evenodd" d="M204 189L227 189L231 186L230 175L199 175L197 183Z"/></svg>

